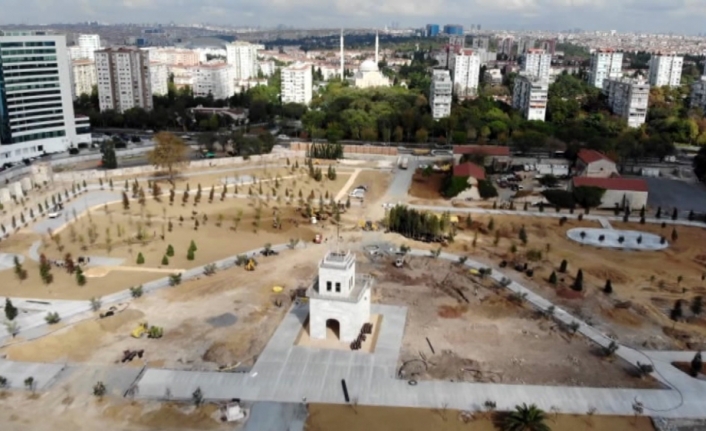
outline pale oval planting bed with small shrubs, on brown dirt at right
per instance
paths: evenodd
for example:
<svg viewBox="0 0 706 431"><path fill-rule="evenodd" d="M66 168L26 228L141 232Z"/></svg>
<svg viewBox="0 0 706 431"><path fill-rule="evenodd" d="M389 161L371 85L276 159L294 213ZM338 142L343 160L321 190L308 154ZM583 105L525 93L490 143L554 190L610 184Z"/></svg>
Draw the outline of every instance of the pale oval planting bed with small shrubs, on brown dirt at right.
<svg viewBox="0 0 706 431"><path fill-rule="evenodd" d="M595 247L625 250L664 250L669 242L659 235L636 230L574 228L566 232L569 239Z"/></svg>

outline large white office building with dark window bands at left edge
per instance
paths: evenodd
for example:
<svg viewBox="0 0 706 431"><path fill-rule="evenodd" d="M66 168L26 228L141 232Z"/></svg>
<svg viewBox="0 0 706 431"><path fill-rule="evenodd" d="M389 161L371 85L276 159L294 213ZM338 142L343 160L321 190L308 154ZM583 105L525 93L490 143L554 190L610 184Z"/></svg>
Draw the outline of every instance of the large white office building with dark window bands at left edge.
<svg viewBox="0 0 706 431"><path fill-rule="evenodd" d="M0 31L0 83L0 166L90 144L74 116L65 36Z"/></svg>

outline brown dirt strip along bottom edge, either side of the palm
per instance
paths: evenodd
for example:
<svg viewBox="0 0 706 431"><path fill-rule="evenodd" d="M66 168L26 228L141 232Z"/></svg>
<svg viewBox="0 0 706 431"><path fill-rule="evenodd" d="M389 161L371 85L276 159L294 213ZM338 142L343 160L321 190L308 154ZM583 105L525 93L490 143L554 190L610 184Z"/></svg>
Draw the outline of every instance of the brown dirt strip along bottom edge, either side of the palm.
<svg viewBox="0 0 706 431"><path fill-rule="evenodd" d="M470 421L458 410L373 407L342 404L310 404L306 431L497 431L499 418L488 413L475 413ZM495 416L495 417L493 417ZM494 424L494 422L496 422ZM653 431L646 417L578 416L548 414L547 425L554 431Z"/></svg>

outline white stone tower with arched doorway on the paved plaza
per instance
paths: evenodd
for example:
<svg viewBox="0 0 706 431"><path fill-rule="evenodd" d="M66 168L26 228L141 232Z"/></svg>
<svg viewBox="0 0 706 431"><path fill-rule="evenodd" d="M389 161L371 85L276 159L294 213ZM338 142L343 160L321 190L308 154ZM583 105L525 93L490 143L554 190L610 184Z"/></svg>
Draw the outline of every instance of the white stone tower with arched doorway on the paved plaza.
<svg viewBox="0 0 706 431"><path fill-rule="evenodd" d="M309 335L326 339L328 329L340 341L354 341L370 322L372 278L355 272L355 255L329 251L319 263L319 276L307 291Z"/></svg>

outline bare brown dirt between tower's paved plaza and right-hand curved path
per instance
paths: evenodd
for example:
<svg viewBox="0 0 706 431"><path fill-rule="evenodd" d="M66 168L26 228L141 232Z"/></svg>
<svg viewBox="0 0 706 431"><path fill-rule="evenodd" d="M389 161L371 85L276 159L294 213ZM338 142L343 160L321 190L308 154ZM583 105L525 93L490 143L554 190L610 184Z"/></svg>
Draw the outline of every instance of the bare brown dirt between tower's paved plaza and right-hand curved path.
<svg viewBox="0 0 706 431"><path fill-rule="evenodd" d="M409 307L399 364L405 377L655 387L633 377L627 364L601 357L582 337L513 302L504 289L478 283L457 264L417 257L408 258L403 269L391 261L383 265L376 265L374 298Z"/></svg>

